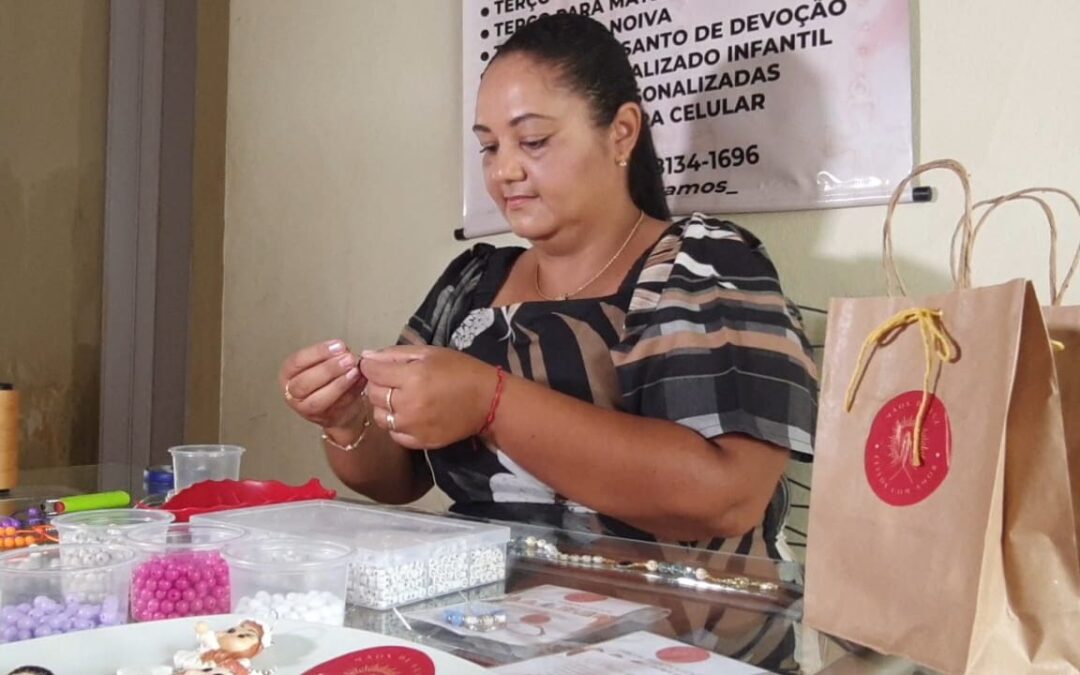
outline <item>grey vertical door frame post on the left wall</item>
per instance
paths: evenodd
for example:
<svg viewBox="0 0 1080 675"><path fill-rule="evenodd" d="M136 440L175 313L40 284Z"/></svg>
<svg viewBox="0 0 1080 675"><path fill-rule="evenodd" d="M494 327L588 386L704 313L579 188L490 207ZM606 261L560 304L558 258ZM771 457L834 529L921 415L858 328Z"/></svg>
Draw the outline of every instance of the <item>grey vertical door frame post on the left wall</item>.
<svg viewBox="0 0 1080 675"><path fill-rule="evenodd" d="M184 440L197 2L109 13L98 487L135 495Z"/></svg>

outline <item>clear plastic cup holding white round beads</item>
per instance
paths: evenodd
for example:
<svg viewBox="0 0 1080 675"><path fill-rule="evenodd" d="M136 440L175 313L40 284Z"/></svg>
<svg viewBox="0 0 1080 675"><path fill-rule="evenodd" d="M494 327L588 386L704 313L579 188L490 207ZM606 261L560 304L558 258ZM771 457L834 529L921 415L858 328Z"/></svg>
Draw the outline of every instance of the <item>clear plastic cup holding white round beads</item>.
<svg viewBox="0 0 1080 675"><path fill-rule="evenodd" d="M222 554L232 579L234 613L345 624L349 546L264 538L230 544Z"/></svg>

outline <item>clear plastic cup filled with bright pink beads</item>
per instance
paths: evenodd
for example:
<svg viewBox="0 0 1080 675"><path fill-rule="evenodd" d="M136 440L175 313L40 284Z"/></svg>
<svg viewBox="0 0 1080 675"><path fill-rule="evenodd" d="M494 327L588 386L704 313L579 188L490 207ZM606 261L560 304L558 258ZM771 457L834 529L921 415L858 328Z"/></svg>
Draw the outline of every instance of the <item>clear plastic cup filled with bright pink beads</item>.
<svg viewBox="0 0 1080 675"><path fill-rule="evenodd" d="M228 612L232 607L229 565L221 550L247 532L239 527L151 524L126 534L135 550L131 579L134 621L158 621Z"/></svg>

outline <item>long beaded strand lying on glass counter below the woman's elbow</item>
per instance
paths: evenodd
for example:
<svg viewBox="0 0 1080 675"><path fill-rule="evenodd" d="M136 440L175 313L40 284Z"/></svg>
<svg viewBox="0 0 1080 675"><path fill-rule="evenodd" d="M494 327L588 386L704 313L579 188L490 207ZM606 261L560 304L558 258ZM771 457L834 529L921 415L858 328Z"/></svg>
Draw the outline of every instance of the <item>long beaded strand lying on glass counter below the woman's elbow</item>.
<svg viewBox="0 0 1080 675"><path fill-rule="evenodd" d="M740 575L717 577L704 567L693 567L680 563L616 561L603 555L564 553L554 543L536 537L515 539L513 551L524 557L551 561L563 565L616 571L637 571L649 579L670 581L677 585L698 590L764 595L770 599L778 599L777 595L780 592L780 584L774 581L759 581Z"/></svg>

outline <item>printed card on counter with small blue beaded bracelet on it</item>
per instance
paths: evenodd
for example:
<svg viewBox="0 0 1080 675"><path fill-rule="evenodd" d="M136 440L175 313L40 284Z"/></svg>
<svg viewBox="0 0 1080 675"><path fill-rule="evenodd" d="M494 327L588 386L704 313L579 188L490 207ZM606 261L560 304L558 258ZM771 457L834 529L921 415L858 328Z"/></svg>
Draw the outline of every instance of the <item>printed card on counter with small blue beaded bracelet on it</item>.
<svg viewBox="0 0 1080 675"><path fill-rule="evenodd" d="M505 621L488 631L470 630L447 620L447 617L454 616L455 612L461 612L457 615L461 616L492 611L504 612ZM409 612L406 616L464 637L478 637L504 645L528 647L557 643L573 635L603 630L626 620L647 624L663 618L666 613L667 610L659 607L621 600L598 593L541 585L483 605L461 603Z"/></svg>

